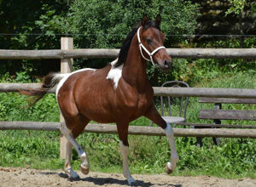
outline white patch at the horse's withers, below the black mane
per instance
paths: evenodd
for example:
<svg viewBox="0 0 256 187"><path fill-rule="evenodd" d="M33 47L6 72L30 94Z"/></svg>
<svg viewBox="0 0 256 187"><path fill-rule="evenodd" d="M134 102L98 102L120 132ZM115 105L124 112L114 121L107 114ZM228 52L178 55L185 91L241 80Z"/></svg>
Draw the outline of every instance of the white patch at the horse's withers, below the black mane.
<svg viewBox="0 0 256 187"><path fill-rule="evenodd" d="M113 67L113 65L115 65L115 63L117 63L118 59L113 60L113 62L111 62L112 68L111 70L108 72L108 76L107 79L112 79L113 80L113 88L116 89L119 85L119 79L120 77L122 77L122 71L123 71L123 65L119 65L118 67Z"/></svg>

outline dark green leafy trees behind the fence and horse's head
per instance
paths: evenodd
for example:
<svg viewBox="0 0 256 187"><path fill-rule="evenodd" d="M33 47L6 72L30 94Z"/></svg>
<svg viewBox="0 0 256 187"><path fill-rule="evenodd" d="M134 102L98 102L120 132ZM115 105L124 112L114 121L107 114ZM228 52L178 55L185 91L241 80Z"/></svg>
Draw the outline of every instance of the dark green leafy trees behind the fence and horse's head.
<svg viewBox="0 0 256 187"><path fill-rule="evenodd" d="M19 34L0 37L0 42L4 43L1 48L15 49L60 48L60 38L67 33L74 37L75 48L120 48L126 35L137 25L143 14L148 14L152 19L156 14L161 14L161 29L166 34L165 45L168 48L183 39L168 35L193 34L198 16L195 11L197 5L183 0L46 0L36 3L28 0L3 0L0 3L0 32ZM13 20L10 15L14 15ZM5 22L9 23L6 27L3 26ZM35 33L38 35L35 36ZM108 62L109 59L78 59L75 68L101 68ZM8 65L7 69L10 68ZM44 67L50 65L50 71L55 71L53 63L45 65L38 60L37 63L25 61L20 68L23 71L30 70L31 75L42 75L46 72L42 71ZM160 72L153 71L150 65L148 74L154 76L154 82L159 81Z"/></svg>

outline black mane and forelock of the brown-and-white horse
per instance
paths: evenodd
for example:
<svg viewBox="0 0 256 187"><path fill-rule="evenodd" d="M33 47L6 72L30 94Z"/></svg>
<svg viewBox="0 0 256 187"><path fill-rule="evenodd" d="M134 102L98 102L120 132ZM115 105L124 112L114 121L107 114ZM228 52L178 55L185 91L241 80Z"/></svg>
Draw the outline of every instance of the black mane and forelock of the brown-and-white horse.
<svg viewBox="0 0 256 187"><path fill-rule="evenodd" d="M135 34L137 33L138 28L141 27L141 26L142 26L142 22L139 22L136 27L132 28L131 32L125 38L125 41L123 42L123 45L122 45L122 47L120 49L120 52L119 52L119 59L114 64L114 67L118 67L119 65L123 65L125 63L126 57L128 55L129 48L131 46L132 38L135 36ZM160 26L157 23L155 23L154 20L148 21L146 26L143 27L143 31L147 30L149 27L153 27L153 28L156 28L156 29L160 30Z"/></svg>

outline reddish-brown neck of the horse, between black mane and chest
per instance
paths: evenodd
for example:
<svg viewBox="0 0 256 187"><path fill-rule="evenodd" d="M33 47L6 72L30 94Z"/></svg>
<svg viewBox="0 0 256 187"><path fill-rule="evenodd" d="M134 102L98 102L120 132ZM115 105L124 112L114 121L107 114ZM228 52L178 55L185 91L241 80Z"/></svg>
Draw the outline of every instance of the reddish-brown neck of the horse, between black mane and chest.
<svg viewBox="0 0 256 187"><path fill-rule="evenodd" d="M126 83L138 91L143 91L148 86L147 62L140 54L137 40L131 42L122 76Z"/></svg>

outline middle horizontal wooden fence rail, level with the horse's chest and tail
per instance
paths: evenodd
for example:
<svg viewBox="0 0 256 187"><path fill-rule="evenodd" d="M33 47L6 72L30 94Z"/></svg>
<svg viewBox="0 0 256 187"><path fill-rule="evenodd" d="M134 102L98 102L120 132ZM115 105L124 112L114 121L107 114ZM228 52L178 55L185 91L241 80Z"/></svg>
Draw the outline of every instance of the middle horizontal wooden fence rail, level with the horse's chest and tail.
<svg viewBox="0 0 256 187"><path fill-rule="evenodd" d="M0 93L18 92L39 86L38 83L0 83ZM55 94L55 88L49 90L49 94ZM256 99L256 89L154 87L154 96Z"/></svg>

